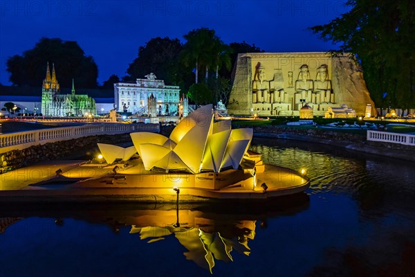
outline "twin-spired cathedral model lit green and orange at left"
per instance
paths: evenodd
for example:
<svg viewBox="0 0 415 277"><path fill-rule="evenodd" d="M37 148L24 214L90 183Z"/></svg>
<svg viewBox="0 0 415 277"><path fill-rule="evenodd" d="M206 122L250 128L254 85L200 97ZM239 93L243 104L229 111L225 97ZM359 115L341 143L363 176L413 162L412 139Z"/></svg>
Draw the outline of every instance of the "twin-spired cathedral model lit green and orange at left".
<svg viewBox="0 0 415 277"><path fill-rule="evenodd" d="M75 94L73 80L71 94L60 94L59 92L60 86L56 79L55 65L53 64L52 76L50 77L48 63L46 78L42 85L42 114L44 116L96 114L95 100L85 94Z"/></svg>

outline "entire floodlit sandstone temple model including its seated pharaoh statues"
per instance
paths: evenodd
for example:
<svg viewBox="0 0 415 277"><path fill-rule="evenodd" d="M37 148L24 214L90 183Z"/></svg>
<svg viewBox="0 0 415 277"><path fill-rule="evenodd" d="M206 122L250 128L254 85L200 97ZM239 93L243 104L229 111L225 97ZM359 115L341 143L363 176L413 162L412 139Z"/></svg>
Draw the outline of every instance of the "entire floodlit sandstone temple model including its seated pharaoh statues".
<svg viewBox="0 0 415 277"><path fill-rule="evenodd" d="M307 104L315 116L346 104L365 114L374 109L358 66L326 53L243 53L234 67L230 114L298 116Z"/></svg>

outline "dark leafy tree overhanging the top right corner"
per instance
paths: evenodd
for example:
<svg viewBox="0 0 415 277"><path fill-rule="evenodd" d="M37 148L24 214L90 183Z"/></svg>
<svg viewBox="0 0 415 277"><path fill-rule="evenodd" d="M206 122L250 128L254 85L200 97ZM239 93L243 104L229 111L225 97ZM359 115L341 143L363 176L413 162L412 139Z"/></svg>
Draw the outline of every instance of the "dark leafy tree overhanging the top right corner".
<svg viewBox="0 0 415 277"><path fill-rule="evenodd" d="M349 0L347 6L349 12L311 30L341 44L334 54L356 57L378 107L415 107L415 1Z"/></svg>

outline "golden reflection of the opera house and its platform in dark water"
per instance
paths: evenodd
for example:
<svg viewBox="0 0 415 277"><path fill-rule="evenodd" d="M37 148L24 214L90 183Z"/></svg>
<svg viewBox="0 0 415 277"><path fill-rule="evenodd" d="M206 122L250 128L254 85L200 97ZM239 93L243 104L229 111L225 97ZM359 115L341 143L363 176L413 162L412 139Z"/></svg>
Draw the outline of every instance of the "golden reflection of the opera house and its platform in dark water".
<svg viewBox="0 0 415 277"><path fill-rule="evenodd" d="M293 215L308 207L309 197L304 193L280 197L275 201L224 202L221 206L166 204L123 204L122 206L21 206L20 210L1 207L0 224L6 226L21 220L12 215L50 217L56 226L65 226L68 218L91 224L107 224L115 233L129 229L131 235L140 235L147 243L163 242L174 236L187 249L187 260L213 273L215 261L233 262L232 251L249 256L250 240L255 239L257 221L261 228L266 221L281 215ZM177 224L179 223L179 224ZM0 225L1 226L1 225Z"/></svg>

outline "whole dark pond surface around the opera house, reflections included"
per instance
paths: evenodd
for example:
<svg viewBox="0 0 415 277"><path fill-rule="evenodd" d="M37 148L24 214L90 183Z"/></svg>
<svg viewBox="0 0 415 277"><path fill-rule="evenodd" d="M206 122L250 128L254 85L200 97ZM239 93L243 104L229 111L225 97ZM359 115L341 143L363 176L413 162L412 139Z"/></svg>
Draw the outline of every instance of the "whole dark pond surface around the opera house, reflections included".
<svg viewBox="0 0 415 277"><path fill-rule="evenodd" d="M0 276L414 276L414 163L256 139L311 188L266 204L1 207ZM212 274L211 274L212 272Z"/></svg>

